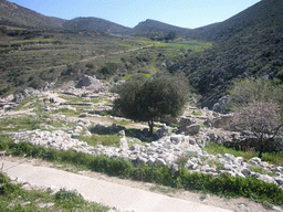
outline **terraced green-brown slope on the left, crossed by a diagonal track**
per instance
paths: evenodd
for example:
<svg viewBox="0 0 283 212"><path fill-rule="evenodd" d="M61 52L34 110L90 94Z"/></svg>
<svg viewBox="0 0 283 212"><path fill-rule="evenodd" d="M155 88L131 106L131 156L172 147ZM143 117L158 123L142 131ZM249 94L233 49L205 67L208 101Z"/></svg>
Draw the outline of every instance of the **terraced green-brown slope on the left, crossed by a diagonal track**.
<svg viewBox="0 0 283 212"><path fill-rule="evenodd" d="M1 33L1 31L0 31ZM96 32L2 29L0 94L14 87L41 87L45 82L78 80L83 74L111 80L136 72L165 71L163 63L196 53L208 43L159 43Z"/></svg>

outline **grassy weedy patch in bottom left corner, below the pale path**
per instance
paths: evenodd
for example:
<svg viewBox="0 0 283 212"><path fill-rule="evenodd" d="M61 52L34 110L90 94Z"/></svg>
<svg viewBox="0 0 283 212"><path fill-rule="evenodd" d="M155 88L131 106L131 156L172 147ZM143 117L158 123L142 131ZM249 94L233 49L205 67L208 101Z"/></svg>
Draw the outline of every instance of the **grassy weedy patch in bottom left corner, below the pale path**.
<svg viewBox="0 0 283 212"><path fill-rule="evenodd" d="M55 194L52 190L24 190L21 184L11 183L10 179L0 173L0 211L97 211L106 212L109 208L85 201L76 191L61 189ZM53 203L41 209L41 203Z"/></svg>

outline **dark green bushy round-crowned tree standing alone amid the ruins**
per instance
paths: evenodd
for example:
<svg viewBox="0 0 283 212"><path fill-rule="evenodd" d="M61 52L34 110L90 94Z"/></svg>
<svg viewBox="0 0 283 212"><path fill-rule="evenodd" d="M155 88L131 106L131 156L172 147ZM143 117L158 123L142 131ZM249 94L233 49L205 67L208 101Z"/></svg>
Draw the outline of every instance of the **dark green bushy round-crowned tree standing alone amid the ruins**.
<svg viewBox="0 0 283 212"><path fill-rule="evenodd" d="M146 78L136 75L122 84L114 102L115 108L125 117L147 121L149 134L154 131L154 120L165 115L176 117L188 100L188 86L178 77L163 75Z"/></svg>

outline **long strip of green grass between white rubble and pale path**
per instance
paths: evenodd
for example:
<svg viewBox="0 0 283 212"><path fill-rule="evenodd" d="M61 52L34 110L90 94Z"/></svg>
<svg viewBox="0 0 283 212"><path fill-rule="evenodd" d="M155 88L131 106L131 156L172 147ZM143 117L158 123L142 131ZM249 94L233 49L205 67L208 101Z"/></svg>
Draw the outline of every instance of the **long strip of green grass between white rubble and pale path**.
<svg viewBox="0 0 283 212"><path fill-rule="evenodd" d="M42 158L52 162L72 165L109 176L154 182L157 184L186 189L190 191L202 191L226 198L244 197L255 202L282 204L283 190L272 183L260 181L255 178L233 178L219 176L217 178L202 174L189 173L187 169L180 168L178 172L171 172L168 167L136 166L122 158L108 158L106 156L92 157L72 150L66 152L52 148L31 146L27 142L13 144L9 137L0 136L0 150L7 150L13 156Z"/></svg>

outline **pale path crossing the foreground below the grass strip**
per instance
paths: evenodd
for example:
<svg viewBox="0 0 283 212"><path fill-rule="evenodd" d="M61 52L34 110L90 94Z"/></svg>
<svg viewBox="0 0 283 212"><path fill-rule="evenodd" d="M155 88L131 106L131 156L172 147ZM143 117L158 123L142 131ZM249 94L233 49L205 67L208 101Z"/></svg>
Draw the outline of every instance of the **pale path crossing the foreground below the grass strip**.
<svg viewBox="0 0 283 212"><path fill-rule="evenodd" d="M59 179L53 179L53 181L51 180L51 176L55 174L55 173L49 173L45 174L44 172L42 172L42 168L50 168L50 167L54 167L52 163L43 161L43 160L39 160L39 159L28 159L28 158L15 158L15 157L2 157L0 159L0 167L2 167L3 165L3 170L6 172L8 172L9 176L11 177L19 177L19 179L21 179L22 181L29 181L31 183L35 183L35 177L38 174L36 170L40 170L40 179L38 179L39 181L36 181L38 186L41 187L53 187L56 189L60 189L61 186L63 186L62 181L59 183L59 186L55 187L55 184L51 183L51 184L45 184L44 183L46 181L53 182L53 181L57 181ZM20 169L20 165L24 166L24 168ZM12 167L11 169L9 167ZM32 169L31 167L35 167L39 169ZM55 166L55 167L61 167L61 166ZM29 171L28 171L29 169ZM63 177L64 180L66 181L66 179L69 178L67 176L71 174L70 172L66 171L62 171L63 169L69 169L69 170L74 170L75 168L71 167L71 168L61 168L60 172L59 172L59 177ZM48 169L49 170L49 169ZM28 171L28 172L27 172ZM77 171L76 171L77 172ZM235 212L266 212L266 211L274 211L274 210L266 210L264 209L261 204L259 203L254 203L254 202L250 202L247 199L243 198L239 198L239 199L222 199L219 197L213 197L213 195L205 195L201 193L193 193L193 192L189 192L189 191L184 191L184 190L174 190L171 188L166 188L166 187L161 187L161 186L156 186L154 183L146 183L146 182L139 182L139 181L132 181L132 180L124 180L124 179L119 179L119 178L115 178L115 177L108 177L106 174L103 173L97 173L97 172L93 172L93 171L80 171L80 174L75 174L77 176L82 176L84 177L83 179L94 179L95 183L94 184L99 184L101 182L103 182L103 188L101 188L102 190L99 192L97 192L97 187L92 188L92 191L97 193L101 193L102 195L97 199L93 199L93 201L99 200L98 202L103 202L107 205L115 205L122 209L132 209L135 210L135 212L140 211L138 210L138 208L135 208L137 205L143 206L143 204L161 204L163 208L160 209L160 211L166 211L166 209L170 209L168 206L165 206L164 202L160 203L160 200L166 200L166 201L171 201L171 199L174 199L174 206L175 205L184 205L184 204L190 204L190 208L181 208L181 206L177 206L174 208L172 211L178 211L178 209L180 209L179 211L201 211L202 209L206 212L209 211L217 211L217 212L221 212L221 211L226 211L226 210L230 210L230 211L235 211ZM44 178L45 176L45 178ZM74 176L72 173L72 176ZM80 180L80 178L77 179ZM80 191L86 199L93 198L93 197L97 197L96 194L92 194L92 193L87 193L87 190L84 190L83 187L81 186L81 182L78 183L76 180L73 182L67 182L70 187L67 187L69 189L76 189L75 187L78 184L80 188L77 189L77 191ZM105 183L105 184L104 184ZM90 183L88 183L90 186ZM88 187L87 186L87 187ZM102 184L101 184L102 186ZM108 186L111 188L108 188ZM115 190L114 189L115 186ZM122 187L119 187L122 186ZM123 192L124 189L126 190L125 193ZM127 191L129 189L129 191ZM134 190L132 190L134 189ZM154 193L153 193L154 191ZM115 193L117 192L117 193ZM134 193L130 193L134 192ZM140 194L142 193L142 194ZM153 195L151 194L158 194L158 195ZM160 195L163 194L163 195ZM106 197L104 197L106 195ZM114 195L114 197L112 197ZM117 195L117 197L116 197ZM145 195L145 197L144 197ZM111 197L111 200L106 200L107 197ZM120 197L120 199L118 198ZM153 199L156 202L153 202L151 200L148 200L148 197L151 198L157 198L157 199ZM168 197L170 197L168 199ZM114 198L114 199L113 199ZM136 200L137 198L137 200ZM166 199L164 199L166 198ZM126 205L126 201L130 200L132 203L128 203L128 205ZM140 200L142 199L142 200ZM176 200L178 199L178 200ZM143 202L144 200L147 200L148 202ZM136 202L137 201L137 202ZM140 204L140 202L143 202L143 204ZM120 202L120 204L119 204ZM136 202L136 203L133 203ZM139 202L139 203L138 203ZM206 205L210 205L209 208L206 208ZM196 208L193 208L193 205ZM205 206L205 208L203 208ZM216 206L216 208L214 208ZM226 209L226 210L222 210ZM202 211L203 211L202 210ZM142 210L143 212L145 211L153 211L153 210ZM158 211L158 210L154 210L154 211ZM277 210L275 211L281 211L280 208L277 208Z"/></svg>

